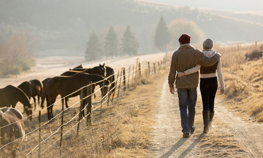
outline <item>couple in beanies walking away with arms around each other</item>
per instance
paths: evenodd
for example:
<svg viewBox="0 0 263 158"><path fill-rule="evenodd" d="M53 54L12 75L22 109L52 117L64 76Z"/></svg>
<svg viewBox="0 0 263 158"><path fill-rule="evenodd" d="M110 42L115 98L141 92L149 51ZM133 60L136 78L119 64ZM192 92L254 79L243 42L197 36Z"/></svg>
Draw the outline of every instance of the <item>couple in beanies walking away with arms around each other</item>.
<svg viewBox="0 0 263 158"><path fill-rule="evenodd" d="M195 114L197 86L200 69L200 91L203 102L204 133L212 125L214 117L214 102L218 88L217 73L221 94L224 93L224 79L221 68L220 54L213 48L213 40L205 39L202 52L190 45L191 37L183 34L179 38L180 47L173 53L168 83L170 92L174 94L174 81L179 98L181 126L183 137L195 132ZM176 74L177 72L177 74ZM217 72L217 73L216 73ZM188 109L188 115L187 115Z"/></svg>

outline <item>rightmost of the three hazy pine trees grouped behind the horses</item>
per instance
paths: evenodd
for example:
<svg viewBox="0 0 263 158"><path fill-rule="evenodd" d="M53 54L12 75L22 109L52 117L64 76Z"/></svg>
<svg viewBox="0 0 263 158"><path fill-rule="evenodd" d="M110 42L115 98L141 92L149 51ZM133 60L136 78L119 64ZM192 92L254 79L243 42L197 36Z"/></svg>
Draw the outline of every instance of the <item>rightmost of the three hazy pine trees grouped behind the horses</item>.
<svg viewBox="0 0 263 158"><path fill-rule="evenodd" d="M135 33L131 31L131 26L128 25L122 37L121 55L136 55L138 53L139 42Z"/></svg>

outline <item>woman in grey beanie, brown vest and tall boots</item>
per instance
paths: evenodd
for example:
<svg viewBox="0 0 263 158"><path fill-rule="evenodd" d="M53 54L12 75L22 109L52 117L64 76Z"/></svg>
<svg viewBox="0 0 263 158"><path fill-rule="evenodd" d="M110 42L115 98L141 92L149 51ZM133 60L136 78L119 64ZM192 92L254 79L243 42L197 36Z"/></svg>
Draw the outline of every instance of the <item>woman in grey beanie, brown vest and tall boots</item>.
<svg viewBox="0 0 263 158"><path fill-rule="evenodd" d="M212 49L214 46L212 39L205 39L202 44L202 53L205 56L211 58L216 52ZM212 125L213 117L214 117L214 103L215 103L215 95L218 88L217 82L217 74L220 82L220 92L221 95L225 92L224 86L224 77L221 67L221 59L219 62L215 63L210 67L201 67L200 65L196 65L191 69L188 69L184 72L178 72L178 77L182 77L184 75L189 75L191 73L197 72L200 69L200 91L203 101L203 121L204 121L204 133L209 131L209 128L214 128ZM217 74L216 74L217 72Z"/></svg>

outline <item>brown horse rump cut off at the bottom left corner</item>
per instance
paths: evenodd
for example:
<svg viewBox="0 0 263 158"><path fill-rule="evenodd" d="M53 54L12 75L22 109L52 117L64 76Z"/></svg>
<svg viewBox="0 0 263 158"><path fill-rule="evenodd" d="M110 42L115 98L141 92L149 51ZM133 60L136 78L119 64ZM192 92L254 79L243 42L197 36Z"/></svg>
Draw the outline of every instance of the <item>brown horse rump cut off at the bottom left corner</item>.
<svg viewBox="0 0 263 158"><path fill-rule="evenodd" d="M23 142L25 136L23 115L20 111L14 108L0 109L0 127L2 127L1 146L3 146L1 149L1 155L2 157L15 158L18 146Z"/></svg>

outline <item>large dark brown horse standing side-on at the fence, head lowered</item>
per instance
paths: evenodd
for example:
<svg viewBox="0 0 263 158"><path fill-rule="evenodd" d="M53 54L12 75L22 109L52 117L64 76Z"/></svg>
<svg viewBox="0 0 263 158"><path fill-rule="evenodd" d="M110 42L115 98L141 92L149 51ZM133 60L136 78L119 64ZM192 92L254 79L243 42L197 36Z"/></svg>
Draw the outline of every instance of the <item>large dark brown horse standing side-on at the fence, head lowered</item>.
<svg viewBox="0 0 263 158"><path fill-rule="evenodd" d="M46 94L48 97L48 104L47 104L48 119L50 120L51 118L53 118L52 108L58 95L61 95L61 97L65 97L81 89L81 87L87 86L90 81L92 81L92 83L98 82L97 84L102 86L104 79L105 78L100 75L87 74L87 73L77 73L73 76L57 76L49 79L45 85ZM109 85L109 82L106 80L106 83L104 83L104 85L106 85L104 87L104 91L107 92L108 90L107 86ZM76 93L73 93L72 95L68 96L68 98L80 95L80 93L81 91L79 90ZM83 98L86 96L87 96L87 87L83 89ZM83 101L82 107L84 105L85 105L85 100Z"/></svg>

